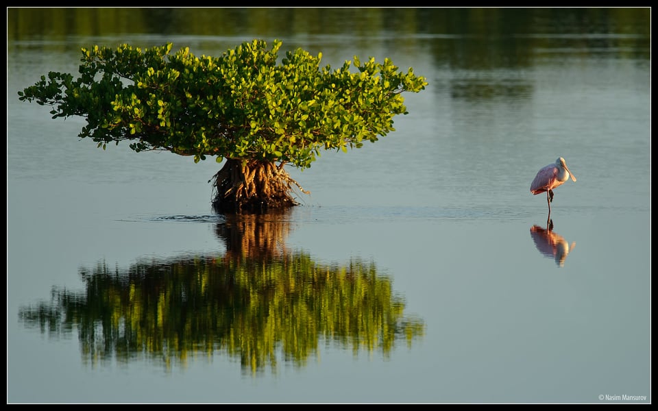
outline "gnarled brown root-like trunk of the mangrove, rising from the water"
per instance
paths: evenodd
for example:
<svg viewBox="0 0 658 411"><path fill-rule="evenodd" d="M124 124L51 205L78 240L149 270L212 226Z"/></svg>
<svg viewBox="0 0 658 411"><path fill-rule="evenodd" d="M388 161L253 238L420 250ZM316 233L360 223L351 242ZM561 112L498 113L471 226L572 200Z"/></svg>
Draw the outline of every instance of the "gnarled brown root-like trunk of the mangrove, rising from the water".
<svg viewBox="0 0 658 411"><path fill-rule="evenodd" d="M274 162L227 159L212 181L212 207L217 212L265 212L297 206L293 186L309 192Z"/></svg>

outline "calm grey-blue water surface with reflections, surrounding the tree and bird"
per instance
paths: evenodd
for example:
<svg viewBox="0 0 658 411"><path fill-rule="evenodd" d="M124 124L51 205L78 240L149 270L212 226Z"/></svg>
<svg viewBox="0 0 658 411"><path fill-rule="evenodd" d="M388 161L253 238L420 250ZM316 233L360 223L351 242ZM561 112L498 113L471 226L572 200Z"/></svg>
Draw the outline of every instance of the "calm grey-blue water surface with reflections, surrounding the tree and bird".
<svg viewBox="0 0 658 411"><path fill-rule="evenodd" d="M650 403L648 10L86 13L8 12L8 402ZM80 47L253 38L429 85L265 216L16 95Z"/></svg>

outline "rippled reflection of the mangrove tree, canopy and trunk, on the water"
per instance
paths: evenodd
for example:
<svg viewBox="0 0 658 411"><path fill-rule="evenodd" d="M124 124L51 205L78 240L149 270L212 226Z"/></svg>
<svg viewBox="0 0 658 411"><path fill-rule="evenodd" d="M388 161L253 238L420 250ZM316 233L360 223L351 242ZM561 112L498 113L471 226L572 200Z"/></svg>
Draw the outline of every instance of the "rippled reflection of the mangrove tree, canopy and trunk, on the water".
<svg viewBox="0 0 658 411"><path fill-rule="evenodd" d="M321 341L387 357L398 340L424 334L373 262L325 265L288 251L286 217L226 216L216 227L223 255L145 258L127 269L99 262L80 270L83 291L53 288L51 301L19 316L49 336L77 329L93 366L146 358L171 369L221 353L254 374L276 373L280 360L304 366Z"/></svg>

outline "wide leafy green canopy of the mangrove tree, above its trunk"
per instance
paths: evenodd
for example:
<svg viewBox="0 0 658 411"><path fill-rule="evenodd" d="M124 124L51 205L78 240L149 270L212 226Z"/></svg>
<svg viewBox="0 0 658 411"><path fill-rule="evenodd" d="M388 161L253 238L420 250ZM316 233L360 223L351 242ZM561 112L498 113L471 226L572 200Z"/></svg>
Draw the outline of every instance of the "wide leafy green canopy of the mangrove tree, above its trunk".
<svg viewBox="0 0 658 411"><path fill-rule="evenodd" d="M427 85L388 58L320 68L321 53L287 51L280 40L243 42L220 57L188 47L82 49L80 77L51 71L19 99L51 105L53 119L84 116L80 137L98 147L130 140L134 151L166 150L309 167L320 149L363 147L407 114L404 91ZM351 69L356 70L351 70Z"/></svg>

